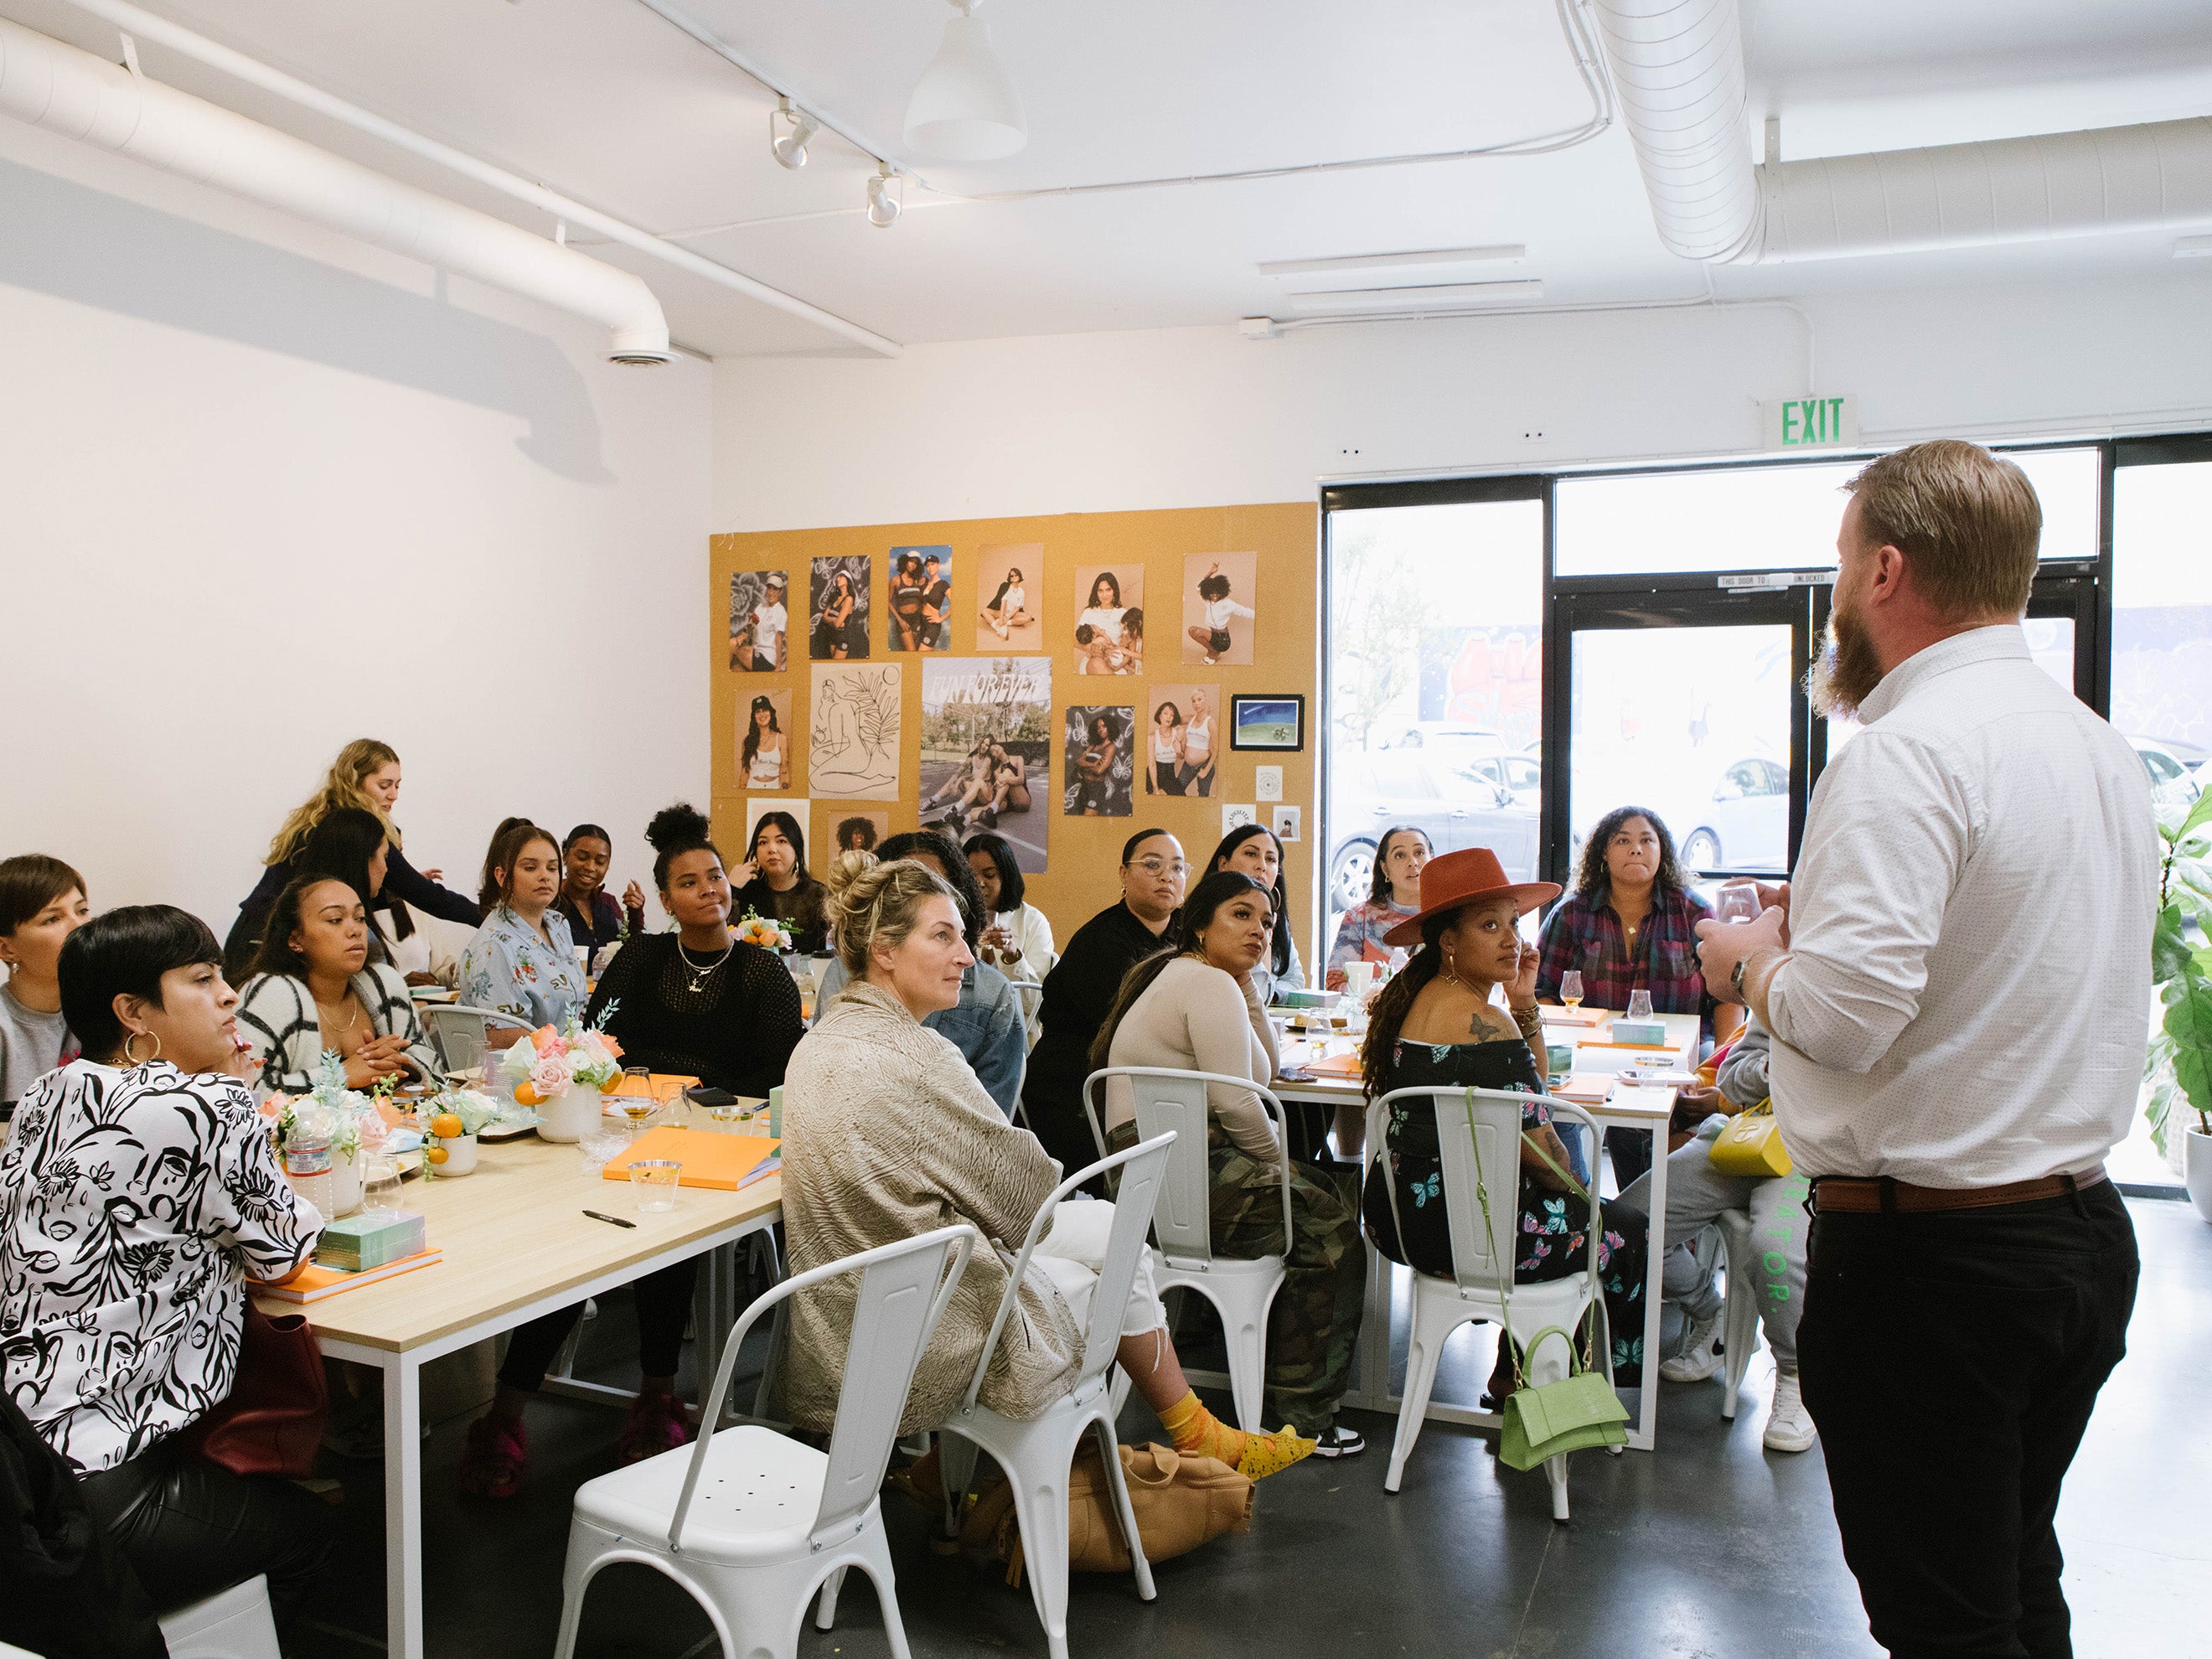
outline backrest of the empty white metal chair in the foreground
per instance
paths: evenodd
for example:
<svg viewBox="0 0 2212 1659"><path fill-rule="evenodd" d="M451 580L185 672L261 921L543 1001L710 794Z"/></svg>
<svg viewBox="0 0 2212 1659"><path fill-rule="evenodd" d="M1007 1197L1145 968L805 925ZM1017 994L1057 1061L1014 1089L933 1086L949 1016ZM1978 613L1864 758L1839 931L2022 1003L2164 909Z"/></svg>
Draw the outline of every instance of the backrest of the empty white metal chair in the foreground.
<svg viewBox="0 0 2212 1659"><path fill-rule="evenodd" d="M814 1544L827 1544L852 1531L883 1486L883 1471L891 1464L891 1442L898 1438L898 1418L914 1387L914 1367L922 1363L922 1349L929 1347L938 1318L960 1285L969 1252L980 1243L982 1234L967 1223L938 1228L823 1263L785 1279L754 1301L721 1349L714 1391L708 1396L690 1469L684 1473L684 1495L668 1524L668 1548L684 1546L684 1517L690 1513L699 1471L706 1469L706 1449L714 1438L714 1422L721 1420L721 1402L730 1391L730 1374L737 1369L745 1332L785 1296L858 1272L860 1287L845 1340L845 1383L838 1391L836 1425L830 1429L830 1469L823 1475L823 1502L810 1537Z"/></svg>

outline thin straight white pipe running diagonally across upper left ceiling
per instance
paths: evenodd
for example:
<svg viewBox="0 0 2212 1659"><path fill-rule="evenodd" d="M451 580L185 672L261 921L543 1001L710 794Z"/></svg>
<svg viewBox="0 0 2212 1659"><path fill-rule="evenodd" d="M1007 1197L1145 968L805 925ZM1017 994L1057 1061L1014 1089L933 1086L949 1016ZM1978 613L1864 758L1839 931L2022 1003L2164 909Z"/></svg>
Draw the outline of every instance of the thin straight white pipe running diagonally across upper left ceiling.
<svg viewBox="0 0 2212 1659"><path fill-rule="evenodd" d="M498 168L489 161L480 161L465 150L456 150L451 144L440 144L438 139L422 137L420 133L400 126L398 122L385 119L374 111L365 111L358 104L347 104L343 97L325 93L321 86L310 86L296 75L285 75L281 69L270 69L268 64L248 58L241 51L232 51L206 35L192 33L179 24L157 18L142 7L126 4L124 0L64 0L64 4L77 11L91 13L113 22L139 40L153 40L168 46L184 58L217 69L232 80L246 82L248 86L259 86L265 93L283 97L290 104L325 115L334 122L343 122L358 133L383 139L394 148L418 155L425 161L436 161L438 166L473 179L489 190L513 197L515 201L529 204L553 219L566 219L571 228L595 230L608 241L619 241L626 248L635 248L641 254L650 254L677 270L701 276L719 288L728 288L734 294L754 299L770 305L787 316L814 323L843 341L867 347L876 356L902 356L905 347L898 341L885 338L874 330L860 327L836 312L825 312L821 305L810 305L796 294L785 294L781 288L770 288L763 281L745 276L739 270L708 259L706 254L695 254L690 248L679 248L672 241L655 237L650 230L639 230L637 226L615 219L613 215L599 212L582 201L560 195L557 190L546 190L542 184L533 184L507 168Z"/></svg>

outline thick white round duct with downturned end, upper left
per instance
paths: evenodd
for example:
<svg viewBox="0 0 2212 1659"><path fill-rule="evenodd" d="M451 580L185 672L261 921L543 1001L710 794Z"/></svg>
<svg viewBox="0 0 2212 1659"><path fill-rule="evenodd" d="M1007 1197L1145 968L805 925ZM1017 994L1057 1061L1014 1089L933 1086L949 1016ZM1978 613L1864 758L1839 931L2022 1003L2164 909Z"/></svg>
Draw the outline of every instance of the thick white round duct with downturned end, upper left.
<svg viewBox="0 0 2212 1659"><path fill-rule="evenodd" d="M615 363L668 363L668 321L626 270L416 190L0 18L0 115L588 316Z"/></svg>

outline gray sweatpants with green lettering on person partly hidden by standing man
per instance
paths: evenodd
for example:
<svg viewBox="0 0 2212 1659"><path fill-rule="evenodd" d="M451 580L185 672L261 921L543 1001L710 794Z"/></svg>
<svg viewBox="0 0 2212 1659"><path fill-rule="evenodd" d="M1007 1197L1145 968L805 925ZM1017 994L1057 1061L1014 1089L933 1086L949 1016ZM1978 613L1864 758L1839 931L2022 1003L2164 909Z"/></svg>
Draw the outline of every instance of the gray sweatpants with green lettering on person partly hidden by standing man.
<svg viewBox="0 0 2212 1659"><path fill-rule="evenodd" d="M1708 1117L1697 1137L1666 1161L1666 1259L1659 1267L1661 1294L1681 1303L1692 1318L1721 1312L1717 1281L1721 1256L1699 1261L1690 1241L1710 1228L1721 1210L1752 1212L1752 1243L1759 1250L1759 1323L1774 1349L1774 1367L1796 1371L1796 1323L1805 1312L1805 1245L1812 1217L1805 1214L1803 1175L1747 1177L1712 1168L1712 1144L1728 1128L1725 1117ZM1650 1210L1650 1175L1639 1175L1621 1192L1624 1203Z"/></svg>

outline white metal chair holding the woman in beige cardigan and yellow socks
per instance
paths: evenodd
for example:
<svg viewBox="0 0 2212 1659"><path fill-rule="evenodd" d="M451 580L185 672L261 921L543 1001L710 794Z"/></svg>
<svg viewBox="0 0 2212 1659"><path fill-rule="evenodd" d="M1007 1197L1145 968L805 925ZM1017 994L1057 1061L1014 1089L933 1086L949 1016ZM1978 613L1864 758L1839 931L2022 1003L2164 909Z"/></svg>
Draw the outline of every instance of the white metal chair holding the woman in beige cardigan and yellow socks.
<svg viewBox="0 0 2212 1659"><path fill-rule="evenodd" d="M1029 1571L1029 1595L1037 1604L1037 1619L1044 1624L1044 1641L1051 1659L1068 1659L1068 1464L1086 1433L1097 1433L1099 1458L1106 1464L1106 1484L1113 1489L1115 1517L1121 1522L1121 1537L1128 1542L1130 1568L1137 1575L1137 1595L1152 1599L1152 1566L1144 1559L1144 1540L1137 1537L1137 1511L1128 1502L1128 1484L1121 1478L1121 1449L1113 1431L1113 1402L1106 1387L1106 1369L1121 1345L1121 1314L1128 1307L1128 1287L1137 1279L1137 1256L1144 1250L1144 1232L1152 1221L1152 1206L1159 1201L1161 1177L1168 1168L1170 1137L1130 1146L1108 1159L1077 1170L1044 1201L1022 1250L1009 1263L1006 1294L998 1301L998 1316L984 1338L982 1356L975 1360L975 1376L969 1380L960 1407L938 1425L938 1460L945 1471L947 1509L951 1511L969 1486L975 1458L969 1447L989 1451L1013 1489L1013 1513L1022 1526L1022 1559ZM1037 1252L1037 1241L1051 1232L1053 1212L1060 1201L1095 1181L1108 1170L1121 1170L1121 1188L1115 1194L1113 1232L1106 1241L1106 1265L1099 1270L1097 1290L1091 1294L1091 1327L1084 1332L1084 1363L1075 1376L1075 1387L1053 1400L1042 1416L1029 1422L1002 1418L975 1396L982 1394L982 1378L991 1369L1000 1332L1013 1316L1015 1298L1022 1292L1022 1274ZM967 1442L967 1444L960 1444Z"/></svg>

